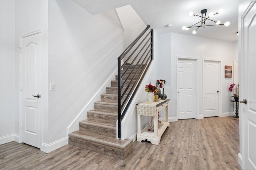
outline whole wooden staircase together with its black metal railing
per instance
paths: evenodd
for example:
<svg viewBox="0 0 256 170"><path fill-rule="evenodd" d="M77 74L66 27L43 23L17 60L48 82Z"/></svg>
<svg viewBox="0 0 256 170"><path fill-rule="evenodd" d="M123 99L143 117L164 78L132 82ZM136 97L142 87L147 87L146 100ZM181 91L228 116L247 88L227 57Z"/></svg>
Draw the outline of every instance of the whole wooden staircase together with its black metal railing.
<svg viewBox="0 0 256 170"><path fill-rule="evenodd" d="M79 130L68 135L70 145L120 159L132 152L132 139L116 137L121 138L121 121L153 60L153 31L149 28L150 25L118 57L116 80L111 81L111 87L106 87L100 101L94 102L94 110L87 112L87 119L79 122ZM132 60L130 64L129 60Z"/></svg>

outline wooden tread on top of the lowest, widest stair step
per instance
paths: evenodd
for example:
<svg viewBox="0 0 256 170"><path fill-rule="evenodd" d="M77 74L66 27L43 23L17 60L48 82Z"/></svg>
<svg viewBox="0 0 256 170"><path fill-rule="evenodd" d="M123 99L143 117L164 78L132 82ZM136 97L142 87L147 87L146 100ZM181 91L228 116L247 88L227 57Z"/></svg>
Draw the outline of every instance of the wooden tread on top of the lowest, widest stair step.
<svg viewBox="0 0 256 170"><path fill-rule="evenodd" d="M127 145L132 143L132 139L116 139L114 137L109 137L107 135L98 135L97 133L93 133L90 131L74 131L73 133L69 134L70 137L75 137L78 139L99 143L102 145L107 145L110 147L115 147L119 149L125 149Z"/></svg>

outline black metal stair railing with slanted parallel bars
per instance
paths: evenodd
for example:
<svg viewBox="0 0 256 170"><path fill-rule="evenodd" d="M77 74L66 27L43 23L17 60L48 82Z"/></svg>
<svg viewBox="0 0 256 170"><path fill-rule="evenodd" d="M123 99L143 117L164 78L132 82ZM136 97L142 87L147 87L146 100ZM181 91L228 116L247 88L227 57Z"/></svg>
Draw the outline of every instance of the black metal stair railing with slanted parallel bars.
<svg viewBox="0 0 256 170"><path fill-rule="evenodd" d="M121 138L121 121L153 60L153 31L149 27L118 57L118 138Z"/></svg>

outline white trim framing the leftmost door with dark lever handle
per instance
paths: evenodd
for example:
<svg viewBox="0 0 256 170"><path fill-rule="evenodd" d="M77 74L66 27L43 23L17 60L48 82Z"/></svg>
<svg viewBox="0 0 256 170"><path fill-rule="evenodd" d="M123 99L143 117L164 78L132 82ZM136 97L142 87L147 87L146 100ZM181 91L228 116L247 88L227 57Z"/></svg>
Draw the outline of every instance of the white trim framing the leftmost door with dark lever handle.
<svg viewBox="0 0 256 170"><path fill-rule="evenodd" d="M19 46L20 47L22 47L22 38L25 38L25 37L29 37L29 36L31 36L31 35L36 35L36 34L38 34L38 33L42 33L42 29L38 29L38 30L36 30L36 31L32 31L32 32L30 32L30 33L26 33L26 34L23 34L23 35L20 35L20 42L19 42ZM19 143L22 143L22 129L20 128L20 126L21 126L21 123L22 123L22 87L21 87L21 85L22 85L22 53L21 53L21 51L20 51L20 55L19 55L19 57L20 57L20 60L19 60L19 62L20 62L20 70L19 70L19 125L18 125L18 127L19 127ZM43 66L43 63L42 63L42 66ZM42 67L42 71L44 70L44 68ZM43 74L43 73L42 73ZM43 78L43 76L42 76L42 78ZM42 87L43 87L43 80L42 80ZM42 98L42 100L43 100L43 98L44 98L44 95L41 95L40 96L40 98ZM40 116L40 132L41 132L41 136L40 136L40 144L41 144L41 147L42 147L42 134L43 134L43 125L42 125L42 118L43 118L43 108L44 108L44 102L42 102L42 110L40 111L40 114L41 115L39 115ZM40 147L40 148L41 148Z"/></svg>

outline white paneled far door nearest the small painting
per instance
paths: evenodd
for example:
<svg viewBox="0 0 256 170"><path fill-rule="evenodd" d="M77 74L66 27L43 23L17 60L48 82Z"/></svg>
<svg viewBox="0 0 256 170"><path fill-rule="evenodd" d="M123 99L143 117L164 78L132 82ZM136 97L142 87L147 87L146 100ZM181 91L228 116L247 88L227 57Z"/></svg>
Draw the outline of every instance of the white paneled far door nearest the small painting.
<svg viewBox="0 0 256 170"><path fill-rule="evenodd" d="M204 61L204 117L219 115L220 62Z"/></svg>

